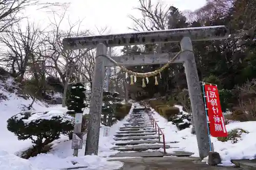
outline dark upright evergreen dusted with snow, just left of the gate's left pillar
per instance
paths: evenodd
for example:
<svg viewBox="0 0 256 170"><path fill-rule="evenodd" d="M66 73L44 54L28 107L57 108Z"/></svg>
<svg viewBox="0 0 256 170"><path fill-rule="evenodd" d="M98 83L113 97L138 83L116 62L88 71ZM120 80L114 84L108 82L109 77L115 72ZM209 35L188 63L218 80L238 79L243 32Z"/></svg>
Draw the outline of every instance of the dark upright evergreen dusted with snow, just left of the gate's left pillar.
<svg viewBox="0 0 256 170"><path fill-rule="evenodd" d="M84 101L86 100L85 91L86 88L84 88L83 84L80 82L72 85L67 101L68 114L82 113L82 108L86 107L86 104L84 104Z"/></svg>

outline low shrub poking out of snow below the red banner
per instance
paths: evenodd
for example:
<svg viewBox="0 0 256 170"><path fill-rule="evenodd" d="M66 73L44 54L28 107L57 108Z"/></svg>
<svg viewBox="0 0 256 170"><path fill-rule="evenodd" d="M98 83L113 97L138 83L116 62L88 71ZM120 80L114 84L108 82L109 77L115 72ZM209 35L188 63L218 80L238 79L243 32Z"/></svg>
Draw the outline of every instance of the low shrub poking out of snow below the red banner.
<svg viewBox="0 0 256 170"><path fill-rule="evenodd" d="M225 142L230 140L231 143L237 143L239 140L241 140L242 134L243 133L249 133L243 129L233 129L231 131L228 132L228 136L227 137L218 137L219 141Z"/></svg>

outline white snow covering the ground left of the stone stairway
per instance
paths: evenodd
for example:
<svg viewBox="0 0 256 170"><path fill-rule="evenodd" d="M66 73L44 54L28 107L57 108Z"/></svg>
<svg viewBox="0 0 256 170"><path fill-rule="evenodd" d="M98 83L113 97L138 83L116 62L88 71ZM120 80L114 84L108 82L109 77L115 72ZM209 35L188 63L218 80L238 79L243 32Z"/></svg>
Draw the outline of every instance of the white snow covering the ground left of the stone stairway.
<svg viewBox="0 0 256 170"><path fill-rule="evenodd" d="M79 150L78 157L73 157L73 150L71 149L71 141L68 137L61 136L60 139L53 142L53 150L48 154L39 154L28 160L17 157L16 154L24 151L32 146L30 140L17 140L17 137L7 130L7 119L17 113L21 112L25 106L29 106L32 99L25 100L15 93L9 92L6 87L12 87L13 79L8 79L3 82L0 80L0 94L8 97L7 100L0 101L0 133L2 138L0 140L0 169L10 170L56 170L68 167L88 166L84 169L116 169L122 166L119 161L107 161L102 158L102 155L108 155L112 147L111 139L115 131L121 126L122 122L118 122L110 131L110 136L103 137L103 127L100 128L99 141L99 156L84 156L84 148ZM62 108L61 105L53 105L48 107L47 104L40 101L35 101L33 104L33 112L51 111L56 114L66 113L67 108ZM84 114L88 114L89 109L84 109ZM37 116L46 116L36 114ZM45 118L45 117L44 117ZM85 135L86 137L86 135ZM73 165L72 162L78 162Z"/></svg>

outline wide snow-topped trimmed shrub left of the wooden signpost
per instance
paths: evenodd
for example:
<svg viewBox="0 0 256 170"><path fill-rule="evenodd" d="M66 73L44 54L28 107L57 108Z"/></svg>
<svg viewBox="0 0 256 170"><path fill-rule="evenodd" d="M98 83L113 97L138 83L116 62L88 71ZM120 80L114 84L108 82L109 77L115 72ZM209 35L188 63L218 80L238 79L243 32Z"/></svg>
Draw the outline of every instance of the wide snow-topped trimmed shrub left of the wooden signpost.
<svg viewBox="0 0 256 170"><path fill-rule="evenodd" d="M42 153L44 147L58 139L60 134L69 134L74 129L74 117L59 112L24 112L7 120L7 129L13 132L18 140L31 139L33 150L30 156Z"/></svg>

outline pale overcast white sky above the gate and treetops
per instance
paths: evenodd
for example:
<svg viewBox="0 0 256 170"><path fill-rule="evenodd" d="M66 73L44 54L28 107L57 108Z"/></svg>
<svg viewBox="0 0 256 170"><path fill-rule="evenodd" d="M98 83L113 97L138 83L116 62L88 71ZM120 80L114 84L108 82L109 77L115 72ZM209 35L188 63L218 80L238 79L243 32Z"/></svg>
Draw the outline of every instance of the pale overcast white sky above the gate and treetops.
<svg viewBox="0 0 256 170"><path fill-rule="evenodd" d="M46 1L46 0L45 0ZM108 27L111 33L129 32L127 27L133 26L133 22L127 16L132 14L139 17L140 14L134 10L138 7L137 0L51 0L51 2L70 2L71 6L67 15L73 21L78 18L83 20L82 29L96 30L97 28ZM159 0L152 0L153 3ZM164 0L166 5L173 5L180 11L183 10L196 10L205 4L205 0ZM47 25L47 20L50 15L35 11L28 10L27 13L35 21L41 23L42 26ZM51 17L51 16L50 16ZM67 26L66 23L62 24L62 28ZM131 32L131 31L130 31Z"/></svg>

